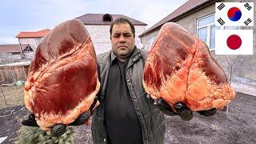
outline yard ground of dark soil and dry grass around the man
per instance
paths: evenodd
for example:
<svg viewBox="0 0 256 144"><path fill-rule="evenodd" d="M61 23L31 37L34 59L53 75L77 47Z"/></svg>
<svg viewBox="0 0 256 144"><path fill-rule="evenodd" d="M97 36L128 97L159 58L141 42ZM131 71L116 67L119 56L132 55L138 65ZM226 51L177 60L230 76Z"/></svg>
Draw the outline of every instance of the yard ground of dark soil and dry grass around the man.
<svg viewBox="0 0 256 144"><path fill-rule="evenodd" d="M3 144L14 143L21 119L28 114L22 102L22 88L8 88L11 91L9 94L6 89L3 91L7 106L2 95L0 98L0 138L8 136ZM164 143L256 143L255 102L255 96L238 93L230 102L228 114L222 110L212 117L194 113L189 122L182 121L178 116L166 116ZM92 143L90 126L76 126L74 142Z"/></svg>

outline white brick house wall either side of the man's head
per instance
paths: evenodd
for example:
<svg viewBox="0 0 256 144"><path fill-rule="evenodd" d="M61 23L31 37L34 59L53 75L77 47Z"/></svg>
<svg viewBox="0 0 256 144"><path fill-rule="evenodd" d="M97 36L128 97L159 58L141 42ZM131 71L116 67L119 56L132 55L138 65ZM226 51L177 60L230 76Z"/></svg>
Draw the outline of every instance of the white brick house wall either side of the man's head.
<svg viewBox="0 0 256 144"><path fill-rule="evenodd" d="M94 26L94 25L85 25L86 30L90 34L90 38L94 43L94 49L96 54L102 54L106 51L111 50L110 42L110 26ZM142 43L139 34L142 34L146 30L146 26L134 26L135 28L135 45L138 48L142 48Z"/></svg>

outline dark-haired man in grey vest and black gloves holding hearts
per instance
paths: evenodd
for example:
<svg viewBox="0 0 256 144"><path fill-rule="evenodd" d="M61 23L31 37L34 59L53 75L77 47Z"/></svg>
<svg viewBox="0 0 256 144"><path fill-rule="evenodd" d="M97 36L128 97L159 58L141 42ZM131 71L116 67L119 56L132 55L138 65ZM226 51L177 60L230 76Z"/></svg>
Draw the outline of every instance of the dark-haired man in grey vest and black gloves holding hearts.
<svg viewBox="0 0 256 144"><path fill-rule="evenodd" d="M161 144L165 133L162 112L175 115L162 99L154 102L146 94L142 74L147 52L136 48L134 37L132 23L126 18L118 18L110 26L112 50L97 57L101 86L97 94L100 105L94 109L91 124L95 144ZM175 105L175 108L183 120L192 118L191 111L182 103ZM83 124L90 114L82 114L70 125ZM34 118L22 124L37 126ZM62 124L51 130L56 136L65 131L66 126Z"/></svg>

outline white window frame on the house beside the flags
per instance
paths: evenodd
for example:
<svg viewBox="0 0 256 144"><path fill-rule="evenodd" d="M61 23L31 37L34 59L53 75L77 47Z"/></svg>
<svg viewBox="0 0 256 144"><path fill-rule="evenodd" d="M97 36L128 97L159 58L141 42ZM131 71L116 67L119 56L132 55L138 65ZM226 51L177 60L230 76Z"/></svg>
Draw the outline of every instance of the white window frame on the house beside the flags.
<svg viewBox="0 0 256 144"><path fill-rule="evenodd" d="M198 18L197 19L197 37L198 37L198 30L203 28L203 27L206 27L207 28L207 38L206 38L206 45L209 47L209 50L215 50L215 47L214 48L210 48L210 27L211 26L215 26L215 23L212 22L210 24L207 24L207 25L204 25L204 26L198 26L198 22L204 18L207 18L207 17L210 17L210 16L214 16L215 13L212 13L212 14L207 14L201 18ZM216 26L215 26L216 27ZM216 29L215 29L216 30Z"/></svg>

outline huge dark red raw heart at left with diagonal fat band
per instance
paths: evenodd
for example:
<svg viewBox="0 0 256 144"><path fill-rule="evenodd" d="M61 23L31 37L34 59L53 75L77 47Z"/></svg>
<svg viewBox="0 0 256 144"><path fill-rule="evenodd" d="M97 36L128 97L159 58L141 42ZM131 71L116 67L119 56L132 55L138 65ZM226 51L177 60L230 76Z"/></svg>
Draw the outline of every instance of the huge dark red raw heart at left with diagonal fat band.
<svg viewBox="0 0 256 144"><path fill-rule="evenodd" d="M35 51L24 101L38 125L69 124L90 109L99 89L96 54L82 22L56 26Z"/></svg>

